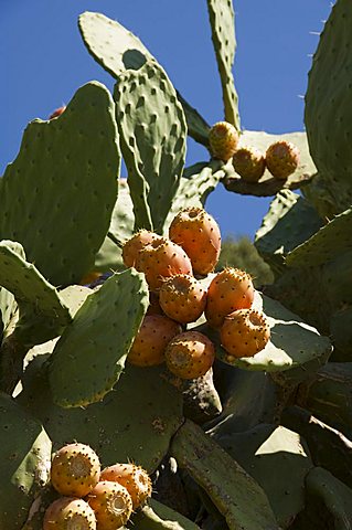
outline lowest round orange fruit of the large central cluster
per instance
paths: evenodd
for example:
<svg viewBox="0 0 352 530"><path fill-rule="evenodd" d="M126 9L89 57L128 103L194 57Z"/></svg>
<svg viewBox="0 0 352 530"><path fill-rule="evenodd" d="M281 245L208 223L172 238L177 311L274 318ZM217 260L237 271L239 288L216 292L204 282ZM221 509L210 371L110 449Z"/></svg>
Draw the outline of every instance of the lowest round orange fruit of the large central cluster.
<svg viewBox="0 0 352 530"><path fill-rule="evenodd" d="M196 379L213 365L213 342L199 331L184 331L174 337L166 350L167 367L181 379Z"/></svg>

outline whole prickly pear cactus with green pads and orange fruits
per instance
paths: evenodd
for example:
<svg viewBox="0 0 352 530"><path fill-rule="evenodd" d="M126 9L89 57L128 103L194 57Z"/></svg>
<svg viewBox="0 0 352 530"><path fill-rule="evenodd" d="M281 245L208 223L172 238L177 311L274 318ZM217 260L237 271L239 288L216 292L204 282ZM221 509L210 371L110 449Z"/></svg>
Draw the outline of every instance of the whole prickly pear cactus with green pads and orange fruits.
<svg viewBox="0 0 352 530"><path fill-rule="evenodd" d="M233 4L207 9L216 141L139 39L85 12L114 93L90 82L29 124L1 179L0 529L351 528L352 4L320 36L307 134L287 135L241 129ZM188 136L207 151L184 168ZM255 236L273 283L213 272L216 186L273 197Z"/></svg>

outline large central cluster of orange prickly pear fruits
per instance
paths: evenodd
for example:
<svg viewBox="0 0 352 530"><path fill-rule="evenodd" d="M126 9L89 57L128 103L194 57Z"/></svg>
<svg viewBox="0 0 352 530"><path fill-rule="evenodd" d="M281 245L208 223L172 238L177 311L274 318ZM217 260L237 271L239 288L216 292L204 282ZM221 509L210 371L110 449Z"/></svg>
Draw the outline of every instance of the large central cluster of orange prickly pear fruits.
<svg viewBox="0 0 352 530"><path fill-rule="evenodd" d="M167 362L181 379L205 375L215 360L215 346L203 333L185 330L202 315L220 331L221 343L236 357L253 357L270 338L264 314L252 309L255 288L249 274L233 267L213 273L221 252L221 231L202 208L182 209L169 237L140 230L122 246L127 267L145 274L153 297L127 360L138 367ZM183 327L182 327L183 326Z"/></svg>

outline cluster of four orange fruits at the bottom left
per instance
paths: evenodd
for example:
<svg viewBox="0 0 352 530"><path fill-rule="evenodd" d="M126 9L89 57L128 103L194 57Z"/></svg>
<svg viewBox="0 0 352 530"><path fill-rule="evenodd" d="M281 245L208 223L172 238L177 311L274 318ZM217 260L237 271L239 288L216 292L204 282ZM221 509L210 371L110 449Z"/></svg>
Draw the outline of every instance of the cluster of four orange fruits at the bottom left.
<svg viewBox="0 0 352 530"><path fill-rule="evenodd" d="M145 469L131 463L100 469L98 455L81 443L55 453L50 476L61 497L46 508L43 530L116 530L151 496Z"/></svg>

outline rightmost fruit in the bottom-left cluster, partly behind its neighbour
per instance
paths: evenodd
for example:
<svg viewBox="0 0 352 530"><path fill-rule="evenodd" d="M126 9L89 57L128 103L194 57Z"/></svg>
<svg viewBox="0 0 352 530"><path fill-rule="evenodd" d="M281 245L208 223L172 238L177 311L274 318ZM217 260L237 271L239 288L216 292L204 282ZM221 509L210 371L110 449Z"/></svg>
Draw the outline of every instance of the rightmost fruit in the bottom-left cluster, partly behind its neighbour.
<svg viewBox="0 0 352 530"><path fill-rule="evenodd" d="M134 510L151 496L151 480L148 473L135 464L115 464L106 467L100 474L100 480L113 480L125 486L131 496Z"/></svg>

